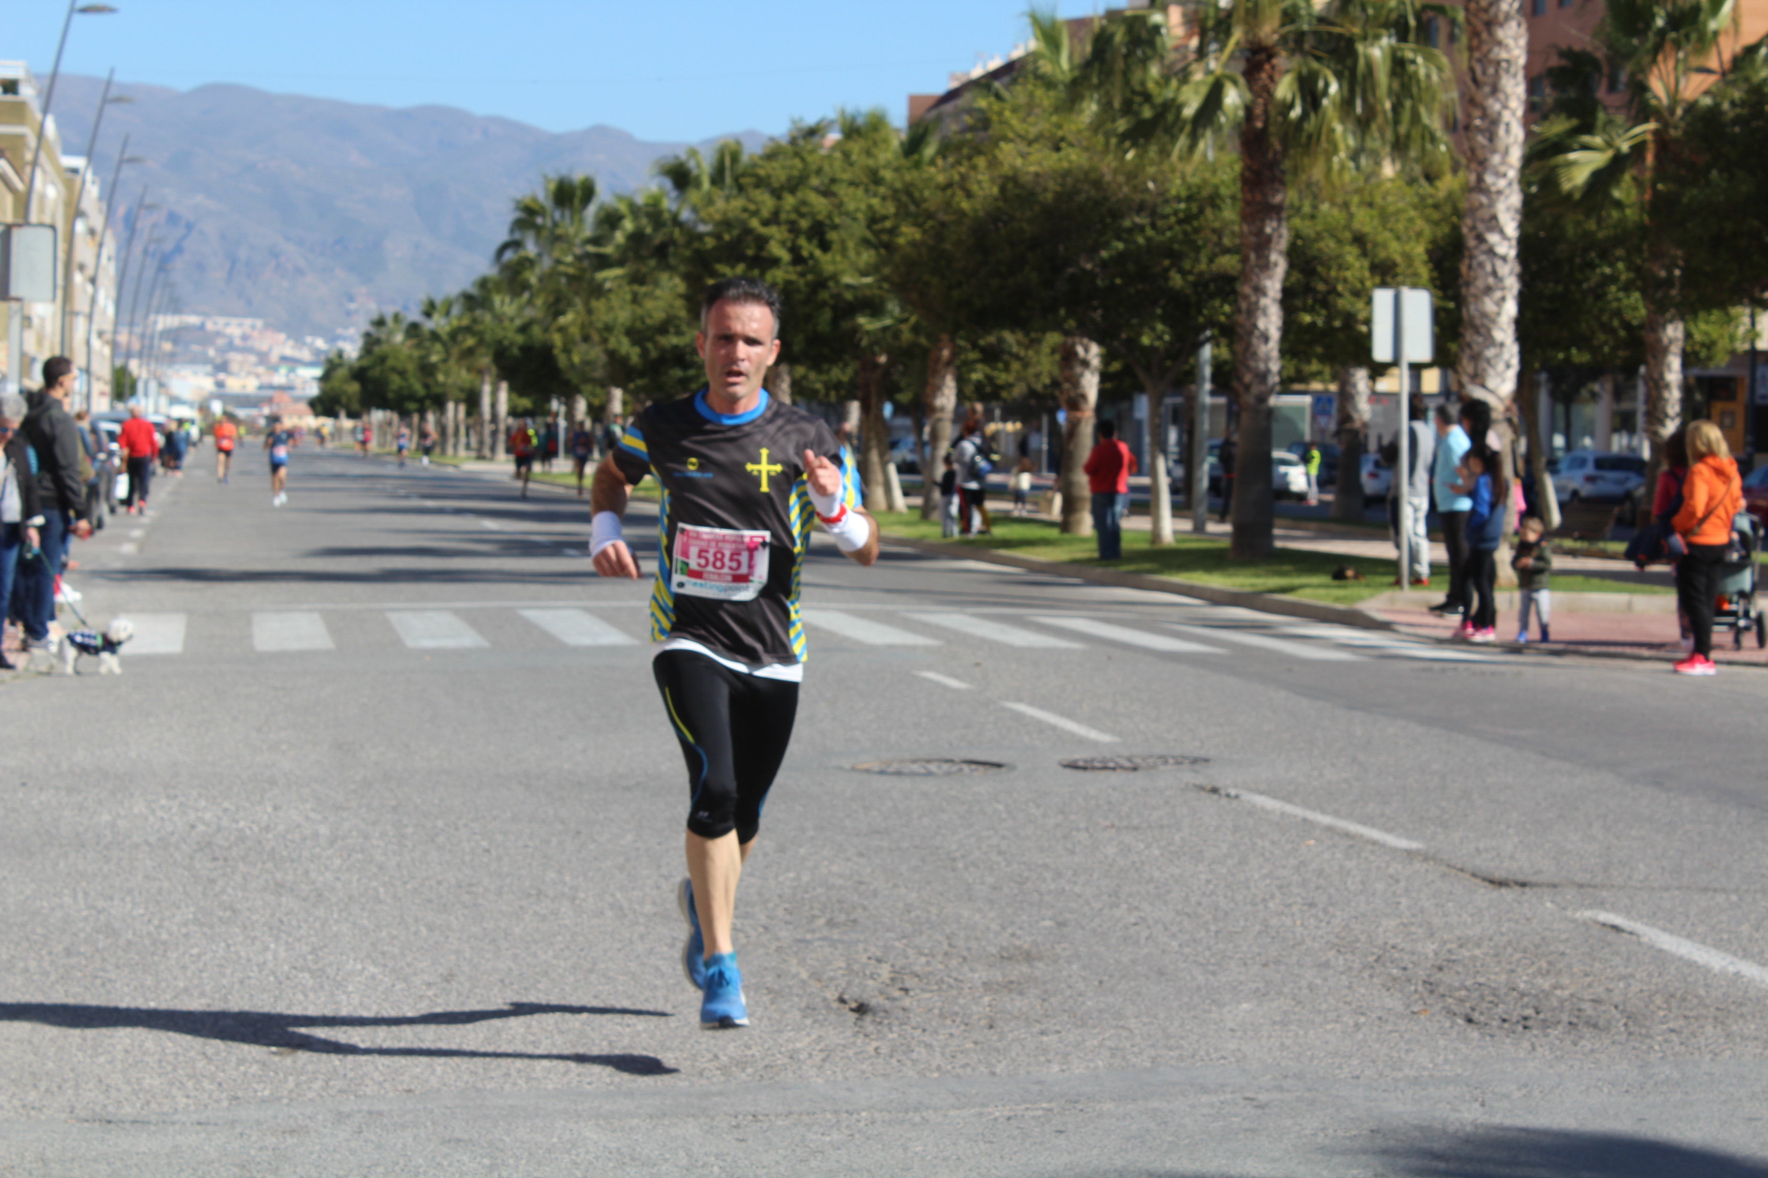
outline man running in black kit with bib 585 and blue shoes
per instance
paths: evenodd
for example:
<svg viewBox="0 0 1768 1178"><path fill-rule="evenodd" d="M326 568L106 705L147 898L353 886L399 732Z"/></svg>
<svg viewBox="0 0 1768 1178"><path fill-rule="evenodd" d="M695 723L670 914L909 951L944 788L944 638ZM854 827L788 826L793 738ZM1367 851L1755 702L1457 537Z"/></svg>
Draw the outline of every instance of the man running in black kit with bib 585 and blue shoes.
<svg viewBox="0 0 1768 1178"><path fill-rule="evenodd" d="M663 487L652 675L688 761L688 880L677 901L700 1026L748 1026L730 940L743 864L792 738L804 678L799 574L815 523L861 565L879 555L872 516L829 427L762 389L780 355L780 295L757 279L714 283L695 348L707 387L633 417L591 486L591 556L638 578L621 539L631 486Z"/></svg>

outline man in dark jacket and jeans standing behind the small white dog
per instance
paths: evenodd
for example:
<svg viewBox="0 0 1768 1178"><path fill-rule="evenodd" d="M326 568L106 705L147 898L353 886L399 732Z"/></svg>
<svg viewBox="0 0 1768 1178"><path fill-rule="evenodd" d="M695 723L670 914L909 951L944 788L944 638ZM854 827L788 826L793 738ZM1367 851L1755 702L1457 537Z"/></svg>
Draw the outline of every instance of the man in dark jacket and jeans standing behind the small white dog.
<svg viewBox="0 0 1768 1178"><path fill-rule="evenodd" d="M67 413L74 396L74 362L67 357L50 357L42 362L42 389L27 397L21 433L35 457L37 498L42 526L39 528L42 555L27 560L19 576L19 613L25 620L25 639L32 655L55 653L50 623L55 622L55 595L64 586L62 567L67 563L69 537L81 540L92 535L87 523L87 486L80 477L80 427ZM72 590L67 590L72 595Z"/></svg>

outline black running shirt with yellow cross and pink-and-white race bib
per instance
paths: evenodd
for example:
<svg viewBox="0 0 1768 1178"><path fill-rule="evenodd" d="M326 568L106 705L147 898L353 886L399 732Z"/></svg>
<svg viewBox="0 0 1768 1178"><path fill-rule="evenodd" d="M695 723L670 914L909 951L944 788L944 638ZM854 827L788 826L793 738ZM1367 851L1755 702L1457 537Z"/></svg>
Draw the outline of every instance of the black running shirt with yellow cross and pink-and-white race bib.
<svg viewBox="0 0 1768 1178"><path fill-rule="evenodd" d="M842 502L859 507L845 447L766 389L748 413L716 412L702 389L631 420L613 463L629 484L649 473L663 491L652 641L690 639L750 669L804 661L799 590L817 519L804 450L840 466ZM748 576L762 560L766 574Z"/></svg>

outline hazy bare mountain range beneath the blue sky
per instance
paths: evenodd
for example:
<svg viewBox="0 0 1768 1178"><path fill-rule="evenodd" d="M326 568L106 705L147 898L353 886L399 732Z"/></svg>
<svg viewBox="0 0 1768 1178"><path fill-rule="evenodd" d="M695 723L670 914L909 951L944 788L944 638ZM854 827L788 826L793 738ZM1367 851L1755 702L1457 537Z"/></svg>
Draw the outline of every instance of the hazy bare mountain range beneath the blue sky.
<svg viewBox="0 0 1768 1178"><path fill-rule="evenodd" d="M64 152L85 150L103 85L60 79ZM145 161L122 173L111 231L126 230L147 185L161 208L143 215L141 233L164 240L182 309L263 318L292 336L354 332L375 311L460 290L488 268L511 200L543 175L591 173L603 193L621 193L688 147L617 127L555 134L449 106L392 109L237 85L117 83L113 94L133 102L104 115L97 177L110 182L124 134ZM766 141L748 131L727 138Z"/></svg>

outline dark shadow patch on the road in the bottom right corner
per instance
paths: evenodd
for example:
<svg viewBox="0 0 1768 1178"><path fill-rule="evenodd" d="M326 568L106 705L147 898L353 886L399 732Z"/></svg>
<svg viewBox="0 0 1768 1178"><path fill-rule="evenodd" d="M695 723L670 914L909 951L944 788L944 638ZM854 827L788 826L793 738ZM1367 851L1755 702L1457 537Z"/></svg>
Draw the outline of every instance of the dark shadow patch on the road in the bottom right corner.
<svg viewBox="0 0 1768 1178"><path fill-rule="evenodd" d="M1635 1137L1552 1129L1480 1129L1379 1152L1407 1178L1768 1178L1768 1160Z"/></svg>

